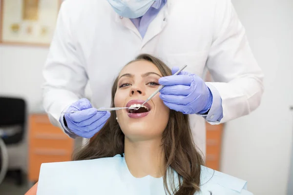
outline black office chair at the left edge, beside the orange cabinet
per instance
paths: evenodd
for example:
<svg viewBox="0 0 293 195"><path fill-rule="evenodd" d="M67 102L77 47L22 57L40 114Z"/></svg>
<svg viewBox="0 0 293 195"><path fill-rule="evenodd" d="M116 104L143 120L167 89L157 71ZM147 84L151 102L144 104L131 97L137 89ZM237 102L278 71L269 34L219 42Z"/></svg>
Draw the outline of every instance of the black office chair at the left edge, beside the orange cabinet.
<svg viewBox="0 0 293 195"><path fill-rule="evenodd" d="M26 127L26 102L21 98L0 97L0 138L9 147L24 139ZM23 184L21 168L9 174L16 178L17 184ZM7 173L7 175L9 175Z"/></svg>

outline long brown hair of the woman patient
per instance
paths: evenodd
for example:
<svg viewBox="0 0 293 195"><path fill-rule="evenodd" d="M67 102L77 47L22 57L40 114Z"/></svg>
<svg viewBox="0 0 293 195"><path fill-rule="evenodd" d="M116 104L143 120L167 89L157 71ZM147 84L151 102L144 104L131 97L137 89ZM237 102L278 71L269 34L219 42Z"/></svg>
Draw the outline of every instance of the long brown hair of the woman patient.
<svg viewBox="0 0 293 195"><path fill-rule="evenodd" d="M165 76L171 75L167 65L151 55L139 55L133 61L147 60L152 62ZM131 62L133 62L131 61ZM129 63L131 63L129 62ZM128 63L128 64L129 64ZM112 86L111 107L114 107L114 96L117 89L118 78ZM111 116L104 127L89 143L74 156L74 160L95 159L112 157L124 153L124 134L116 121L116 112L112 111ZM193 195L200 191L201 166L204 164L201 154L194 145L191 129L189 127L188 115L170 110L169 120L163 132L162 147L165 152L166 169L163 176L165 191L169 195ZM171 169L169 169L171 168ZM179 186L175 186L173 171L178 174ZM167 185L167 177L171 189Z"/></svg>

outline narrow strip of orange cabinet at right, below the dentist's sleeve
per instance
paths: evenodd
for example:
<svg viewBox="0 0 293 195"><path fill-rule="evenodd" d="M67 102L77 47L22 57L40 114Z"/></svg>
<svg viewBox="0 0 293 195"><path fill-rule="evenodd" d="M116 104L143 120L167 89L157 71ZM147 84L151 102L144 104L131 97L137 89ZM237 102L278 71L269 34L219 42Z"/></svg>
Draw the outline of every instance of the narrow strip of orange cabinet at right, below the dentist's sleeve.
<svg viewBox="0 0 293 195"><path fill-rule="evenodd" d="M222 146L223 124L206 124L207 130L207 155L206 166L219 171Z"/></svg>

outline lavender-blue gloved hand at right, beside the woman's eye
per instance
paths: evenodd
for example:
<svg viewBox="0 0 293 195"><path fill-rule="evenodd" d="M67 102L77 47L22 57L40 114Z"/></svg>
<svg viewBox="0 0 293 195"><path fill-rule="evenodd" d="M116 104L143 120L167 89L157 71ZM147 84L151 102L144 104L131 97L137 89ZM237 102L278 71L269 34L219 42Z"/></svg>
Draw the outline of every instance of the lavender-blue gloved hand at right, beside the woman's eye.
<svg viewBox="0 0 293 195"><path fill-rule="evenodd" d="M173 67L172 74L178 70L178 67ZM170 109L183 114L204 114L209 111L212 94L202 78L182 71L178 75L160 78L159 83L166 85L160 91L160 98Z"/></svg>

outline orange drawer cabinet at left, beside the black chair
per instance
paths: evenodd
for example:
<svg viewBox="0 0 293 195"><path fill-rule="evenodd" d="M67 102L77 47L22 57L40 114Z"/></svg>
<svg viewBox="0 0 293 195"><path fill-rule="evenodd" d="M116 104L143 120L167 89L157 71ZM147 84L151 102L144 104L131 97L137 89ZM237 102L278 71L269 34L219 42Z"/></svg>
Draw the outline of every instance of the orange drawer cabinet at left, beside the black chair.
<svg viewBox="0 0 293 195"><path fill-rule="evenodd" d="M53 126L47 115L36 114L29 117L28 179L39 180L41 164L71 160L74 139Z"/></svg>

